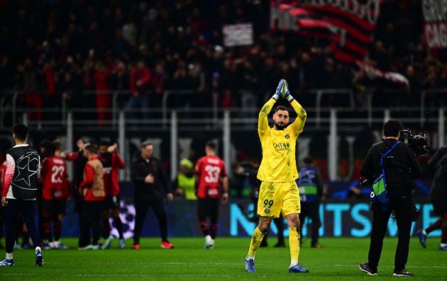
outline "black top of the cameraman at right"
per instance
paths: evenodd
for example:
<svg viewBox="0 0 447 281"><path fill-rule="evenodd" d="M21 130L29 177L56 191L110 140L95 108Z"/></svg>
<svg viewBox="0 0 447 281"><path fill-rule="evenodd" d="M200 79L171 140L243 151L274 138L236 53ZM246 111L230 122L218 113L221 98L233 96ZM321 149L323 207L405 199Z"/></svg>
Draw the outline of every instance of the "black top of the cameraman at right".
<svg viewBox="0 0 447 281"><path fill-rule="evenodd" d="M360 175L368 178L369 183L373 183L380 173L380 157L396 142L395 139L385 139L373 144L368 151ZM384 169L387 192L390 196L411 195L412 180L421 176L421 169L414 152L404 143L397 144L397 147L385 156Z"/></svg>

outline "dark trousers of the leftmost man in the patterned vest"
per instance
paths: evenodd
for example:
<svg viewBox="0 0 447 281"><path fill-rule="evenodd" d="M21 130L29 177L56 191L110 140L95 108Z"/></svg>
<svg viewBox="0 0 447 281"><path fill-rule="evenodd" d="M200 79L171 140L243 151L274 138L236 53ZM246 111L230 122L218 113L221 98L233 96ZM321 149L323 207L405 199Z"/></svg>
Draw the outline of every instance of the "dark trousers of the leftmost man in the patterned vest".
<svg viewBox="0 0 447 281"><path fill-rule="evenodd" d="M35 247L40 246L40 236L36 222L37 203L35 200L8 199L8 206L4 207L6 228L6 253L12 253L17 236L18 214L22 214L28 232Z"/></svg>

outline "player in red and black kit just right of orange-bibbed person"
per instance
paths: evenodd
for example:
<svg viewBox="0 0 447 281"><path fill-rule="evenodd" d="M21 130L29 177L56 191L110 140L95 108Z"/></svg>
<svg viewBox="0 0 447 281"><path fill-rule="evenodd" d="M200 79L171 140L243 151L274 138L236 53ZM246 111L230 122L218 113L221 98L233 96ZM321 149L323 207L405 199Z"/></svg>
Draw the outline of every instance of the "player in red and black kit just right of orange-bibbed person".
<svg viewBox="0 0 447 281"><path fill-rule="evenodd" d="M111 227L109 223L110 213L114 218L116 230L119 235L119 248L124 248L123 222L119 217L120 208L120 190L118 182L118 170L124 168L123 159L118 155L118 145L109 146L109 142L99 143L99 161L101 161L104 171L104 191L106 200L104 201L104 212L102 213L103 234L106 241L102 248L110 248L110 243L114 239L111 235Z"/></svg>

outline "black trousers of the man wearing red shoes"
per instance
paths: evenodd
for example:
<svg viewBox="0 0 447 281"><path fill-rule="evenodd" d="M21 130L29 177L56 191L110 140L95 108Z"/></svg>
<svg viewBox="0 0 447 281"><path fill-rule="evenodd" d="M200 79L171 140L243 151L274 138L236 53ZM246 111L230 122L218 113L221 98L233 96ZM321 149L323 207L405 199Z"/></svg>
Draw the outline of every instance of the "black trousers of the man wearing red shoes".
<svg viewBox="0 0 447 281"><path fill-rule="evenodd" d="M140 243L141 230L143 229L143 222L148 214L149 206L155 213L158 219L158 227L160 229L160 236L162 241L167 241L167 216L163 200L155 201L135 201L135 229L133 231L133 244Z"/></svg>

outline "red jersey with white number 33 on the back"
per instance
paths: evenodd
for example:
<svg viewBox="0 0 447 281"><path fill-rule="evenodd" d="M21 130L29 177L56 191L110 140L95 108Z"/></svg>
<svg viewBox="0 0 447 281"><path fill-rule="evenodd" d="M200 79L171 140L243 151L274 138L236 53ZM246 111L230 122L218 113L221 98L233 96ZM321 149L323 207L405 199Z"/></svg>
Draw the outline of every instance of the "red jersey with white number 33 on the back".
<svg viewBox="0 0 447 281"><path fill-rule="evenodd" d="M197 197L219 198L221 178L226 176L223 160L217 156L204 156L197 161L195 173L199 180Z"/></svg>

